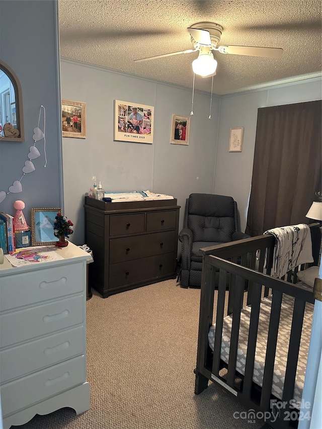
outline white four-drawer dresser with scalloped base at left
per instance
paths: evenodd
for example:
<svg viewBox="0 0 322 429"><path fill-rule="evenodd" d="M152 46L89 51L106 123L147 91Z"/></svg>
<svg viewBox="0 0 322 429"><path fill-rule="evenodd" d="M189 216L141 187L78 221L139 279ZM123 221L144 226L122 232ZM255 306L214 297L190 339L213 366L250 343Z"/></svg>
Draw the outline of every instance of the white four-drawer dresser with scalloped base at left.
<svg viewBox="0 0 322 429"><path fill-rule="evenodd" d="M0 265L0 387L4 429L35 414L90 408L86 381L86 264L72 243L64 259Z"/></svg>

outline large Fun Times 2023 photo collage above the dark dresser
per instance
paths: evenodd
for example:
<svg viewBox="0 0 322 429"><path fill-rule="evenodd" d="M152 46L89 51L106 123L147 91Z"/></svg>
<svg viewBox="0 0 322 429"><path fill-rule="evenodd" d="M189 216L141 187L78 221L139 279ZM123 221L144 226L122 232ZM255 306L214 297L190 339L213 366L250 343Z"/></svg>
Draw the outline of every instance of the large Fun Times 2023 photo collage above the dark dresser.
<svg viewBox="0 0 322 429"><path fill-rule="evenodd" d="M154 108L114 100L114 141L153 143Z"/></svg>

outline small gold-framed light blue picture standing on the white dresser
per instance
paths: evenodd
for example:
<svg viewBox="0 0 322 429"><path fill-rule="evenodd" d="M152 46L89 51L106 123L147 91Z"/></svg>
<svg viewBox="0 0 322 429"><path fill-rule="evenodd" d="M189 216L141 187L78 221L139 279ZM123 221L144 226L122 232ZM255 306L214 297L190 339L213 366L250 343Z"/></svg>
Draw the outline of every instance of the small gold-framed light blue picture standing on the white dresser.
<svg viewBox="0 0 322 429"><path fill-rule="evenodd" d="M59 238L54 236L54 221L60 207L31 209L31 244L54 244Z"/></svg>

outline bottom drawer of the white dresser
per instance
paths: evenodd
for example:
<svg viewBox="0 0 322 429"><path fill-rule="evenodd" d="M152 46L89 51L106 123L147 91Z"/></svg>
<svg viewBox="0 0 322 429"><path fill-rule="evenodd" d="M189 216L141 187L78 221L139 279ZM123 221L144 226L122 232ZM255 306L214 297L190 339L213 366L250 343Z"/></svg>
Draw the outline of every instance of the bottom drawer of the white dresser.
<svg viewBox="0 0 322 429"><path fill-rule="evenodd" d="M36 372L1 386L3 416L86 381L85 356ZM68 404L66 404L68 406Z"/></svg>

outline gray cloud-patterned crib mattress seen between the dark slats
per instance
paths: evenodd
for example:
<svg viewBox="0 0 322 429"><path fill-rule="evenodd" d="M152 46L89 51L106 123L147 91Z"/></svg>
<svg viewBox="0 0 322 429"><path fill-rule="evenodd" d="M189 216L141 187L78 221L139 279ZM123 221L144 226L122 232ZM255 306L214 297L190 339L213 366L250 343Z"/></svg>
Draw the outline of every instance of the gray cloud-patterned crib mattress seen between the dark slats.
<svg viewBox="0 0 322 429"><path fill-rule="evenodd" d="M263 385L264 365L265 365L265 355L266 355L271 304L272 304L272 296L263 298L261 301L261 310L260 310L260 317L259 317L258 337L257 337L256 355L255 355L254 373L253 373L253 381L261 387ZM282 399L282 394L283 394L289 337L290 337L291 322L292 322L292 315L293 315L293 304L294 304L294 299L290 296L283 294L275 364L274 364L273 385L272 385L272 394L279 399ZM313 309L314 309L314 306L312 304L306 303L304 319L303 319L302 336L301 336L301 342L300 342L299 358L298 358L297 371L296 371L296 380L295 380L295 386L294 386L294 396L293 396L293 398L297 402L300 402L302 397L302 392L303 392L306 361L307 361L308 347L310 342ZM242 375L245 375L250 317L251 317L251 306L247 306L241 310L241 314L240 314L240 329L239 329L237 361L236 361L236 371ZM226 316L223 319L221 355L220 355L221 359L226 364L228 364L228 359L229 359L231 325L232 325L232 315ZM215 334L215 325L212 325L208 333L209 346L212 350L214 349L214 338L215 338L214 334Z"/></svg>

